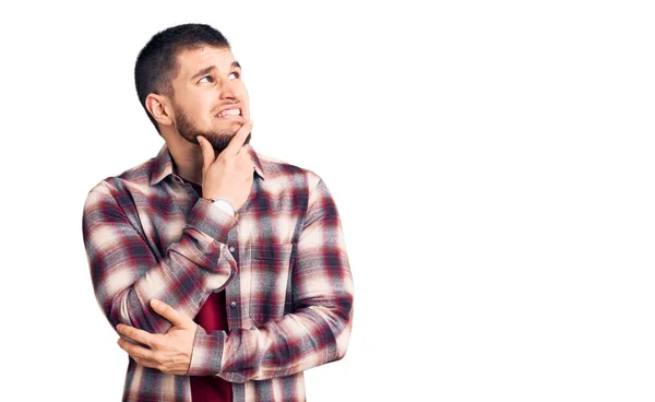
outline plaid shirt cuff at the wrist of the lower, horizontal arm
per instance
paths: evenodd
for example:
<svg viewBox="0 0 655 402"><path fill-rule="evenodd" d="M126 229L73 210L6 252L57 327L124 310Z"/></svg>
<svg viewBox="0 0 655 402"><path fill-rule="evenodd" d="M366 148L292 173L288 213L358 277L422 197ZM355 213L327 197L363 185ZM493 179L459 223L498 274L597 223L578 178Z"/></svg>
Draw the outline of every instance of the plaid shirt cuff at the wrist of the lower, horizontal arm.
<svg viewBox="0 0 655 402"><path fill-rule="evenodd" d="M225 336L224 331L206 333L202 327L195 328L193 351L187 376L215 376L221 371Z"/></svg>

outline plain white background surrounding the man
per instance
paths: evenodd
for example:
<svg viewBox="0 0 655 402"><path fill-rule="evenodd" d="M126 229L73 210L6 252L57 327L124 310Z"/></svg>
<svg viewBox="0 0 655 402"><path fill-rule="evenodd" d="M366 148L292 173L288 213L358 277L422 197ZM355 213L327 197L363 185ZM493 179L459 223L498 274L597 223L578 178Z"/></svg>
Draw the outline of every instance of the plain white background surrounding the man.
<svg viewBox="0 0 655 402"><path fill-rule="evenodd" d="M429 3L4 3L8 400L120 400L82 206L162 145L139 50L203 22L243 66L255 150L342 214L353 335L308 400L653 401L653 10Z"/></svg>

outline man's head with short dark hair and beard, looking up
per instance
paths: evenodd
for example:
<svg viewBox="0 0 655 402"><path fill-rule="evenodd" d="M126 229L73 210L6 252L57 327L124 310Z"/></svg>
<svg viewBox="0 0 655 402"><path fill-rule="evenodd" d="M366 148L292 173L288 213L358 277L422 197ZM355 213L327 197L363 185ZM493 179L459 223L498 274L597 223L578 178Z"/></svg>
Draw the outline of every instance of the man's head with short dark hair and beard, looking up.
<svg viewBox="0 0 655 402"><path fill-rule="evenodd" d="M178 25L153 36L136 58L134 80L165 139L179 134L198 144L202 134L219 152L250 118L241 68L227 39L209 25Z"/></svg>

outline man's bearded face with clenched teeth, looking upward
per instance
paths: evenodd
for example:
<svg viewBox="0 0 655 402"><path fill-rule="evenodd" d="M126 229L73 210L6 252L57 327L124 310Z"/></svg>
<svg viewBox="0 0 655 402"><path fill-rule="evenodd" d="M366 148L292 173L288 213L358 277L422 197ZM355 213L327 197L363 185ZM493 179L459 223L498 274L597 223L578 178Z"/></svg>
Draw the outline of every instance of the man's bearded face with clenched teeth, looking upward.
<svg viewBox="0 0 655 402"><path fill-rule="evenodd" d="M178 64L171 102L179 134L193 144L196 135L204 135L223 151L250 119L239 63L229 49L205 46L181 51Z"/></svg>

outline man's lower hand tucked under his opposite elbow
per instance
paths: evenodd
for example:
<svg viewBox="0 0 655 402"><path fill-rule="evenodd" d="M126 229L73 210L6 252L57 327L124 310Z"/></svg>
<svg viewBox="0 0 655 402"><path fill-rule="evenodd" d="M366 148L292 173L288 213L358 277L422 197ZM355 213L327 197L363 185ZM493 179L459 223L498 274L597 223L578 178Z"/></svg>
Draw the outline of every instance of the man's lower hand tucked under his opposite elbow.
<svg viewBox="0 0 655 402"><path fill-rule="evenodd" d="M156 368L165 374L184 376L191 365L191 352L198 324L167 304L152 299L151 306L159 316L166 318L172 327L166 334L152 334L134 327L118 324L120 334L147 347L135 345L123 339L118 345L142 366Z"/></svg>

